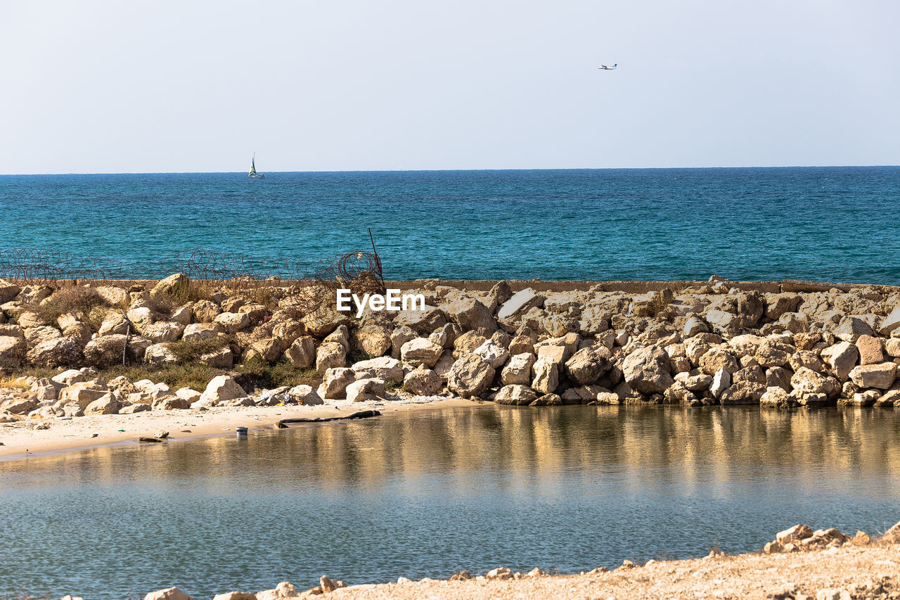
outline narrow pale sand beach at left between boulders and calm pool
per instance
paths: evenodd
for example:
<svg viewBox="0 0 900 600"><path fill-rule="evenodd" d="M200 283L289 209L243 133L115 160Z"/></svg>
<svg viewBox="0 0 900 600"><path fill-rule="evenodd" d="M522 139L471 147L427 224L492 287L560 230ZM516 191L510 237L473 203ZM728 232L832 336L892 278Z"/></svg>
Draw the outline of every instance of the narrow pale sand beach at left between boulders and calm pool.
<svg viewBox="0 0 900 600"><path fill-rule="evenodd" d="M296 417L333 417L376 409L384 415L394 412L472 406L461 398L416 397L392 402L329 401L319 406L230 406L197 410L148 411L137 414L94 414L70 421L40 421L49 429L34 429L35 422L0 423L0 460L67 450L84 450L107 444L139 443L139 437L169 432L169 441L195 440L211 435L234 435L236 427L252 432L271 429L276 421ZM380 418L380 417L375 417ZM184 430L190 430L185 432Z"/></svg>

